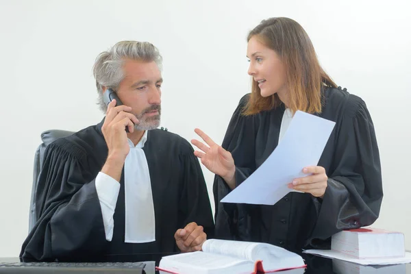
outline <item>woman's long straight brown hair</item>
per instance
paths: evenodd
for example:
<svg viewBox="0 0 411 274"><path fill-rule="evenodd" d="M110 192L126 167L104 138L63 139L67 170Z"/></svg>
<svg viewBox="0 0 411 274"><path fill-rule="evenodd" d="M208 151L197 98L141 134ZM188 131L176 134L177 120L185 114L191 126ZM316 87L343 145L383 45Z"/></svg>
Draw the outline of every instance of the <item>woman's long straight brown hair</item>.
<svg viewBox="0 0 411 274"><path fill-rule="evenodd" d="M336 84L321 68L312 42L303 27L290 18L269 18L249 32L247 42L254 36L266 47L273 49L286 68L287 107L292 112L321 112L321 88L336 88ZM281 103L277 94L262 97L258 83L254 79L251 81L251 97L243 114L271 110Z"/></svg>

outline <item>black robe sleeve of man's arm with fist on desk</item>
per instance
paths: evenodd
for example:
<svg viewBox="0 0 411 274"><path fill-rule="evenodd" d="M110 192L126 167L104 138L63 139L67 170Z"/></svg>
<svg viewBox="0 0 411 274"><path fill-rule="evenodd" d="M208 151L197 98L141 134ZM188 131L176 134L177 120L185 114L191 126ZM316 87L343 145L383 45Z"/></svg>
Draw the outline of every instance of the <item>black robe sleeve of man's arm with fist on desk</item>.
<svg viewBox="0 0 411 274"><path fill-rule="evenodd" d="M182 141L182 153L179 155L182 167L182 195L179 201L179 224L184 228L195 222L203 226L207 238L214 237L214 220L206 181L194 149L186 141ZM178 249L177 249L178 250Z"/></svg>

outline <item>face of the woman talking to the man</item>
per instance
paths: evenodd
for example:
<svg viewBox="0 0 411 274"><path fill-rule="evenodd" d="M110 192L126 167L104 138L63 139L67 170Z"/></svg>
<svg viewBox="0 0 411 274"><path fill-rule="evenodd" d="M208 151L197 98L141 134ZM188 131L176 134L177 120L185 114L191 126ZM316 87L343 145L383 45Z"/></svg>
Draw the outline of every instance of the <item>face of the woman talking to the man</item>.
<svg viewBox="0 0 411 274"><path fill-rule="evenodd" d="M275 93L285 99L286 73L284 64L273 49L266 47L256 36L251 37L247 47L248 74L258 82L262 97Z"/></svg>

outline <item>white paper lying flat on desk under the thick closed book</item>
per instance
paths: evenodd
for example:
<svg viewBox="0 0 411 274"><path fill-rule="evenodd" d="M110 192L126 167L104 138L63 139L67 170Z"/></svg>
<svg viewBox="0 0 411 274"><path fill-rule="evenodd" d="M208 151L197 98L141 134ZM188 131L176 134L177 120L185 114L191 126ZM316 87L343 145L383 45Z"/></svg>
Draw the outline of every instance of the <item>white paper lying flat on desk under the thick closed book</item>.
<svg viewBox="0 0 411 274"><path fill-rule="evenodd" d="M327 258L335 258L347 262L355 262L356 264L371 265L371 264L408 264L411 262L411 252L406 252L406 256L403 258L369 258L369 259L356 259L345 253L340 253L334 250L320 250L320 249L308 249L303 253L319 255Z"/></svg>

